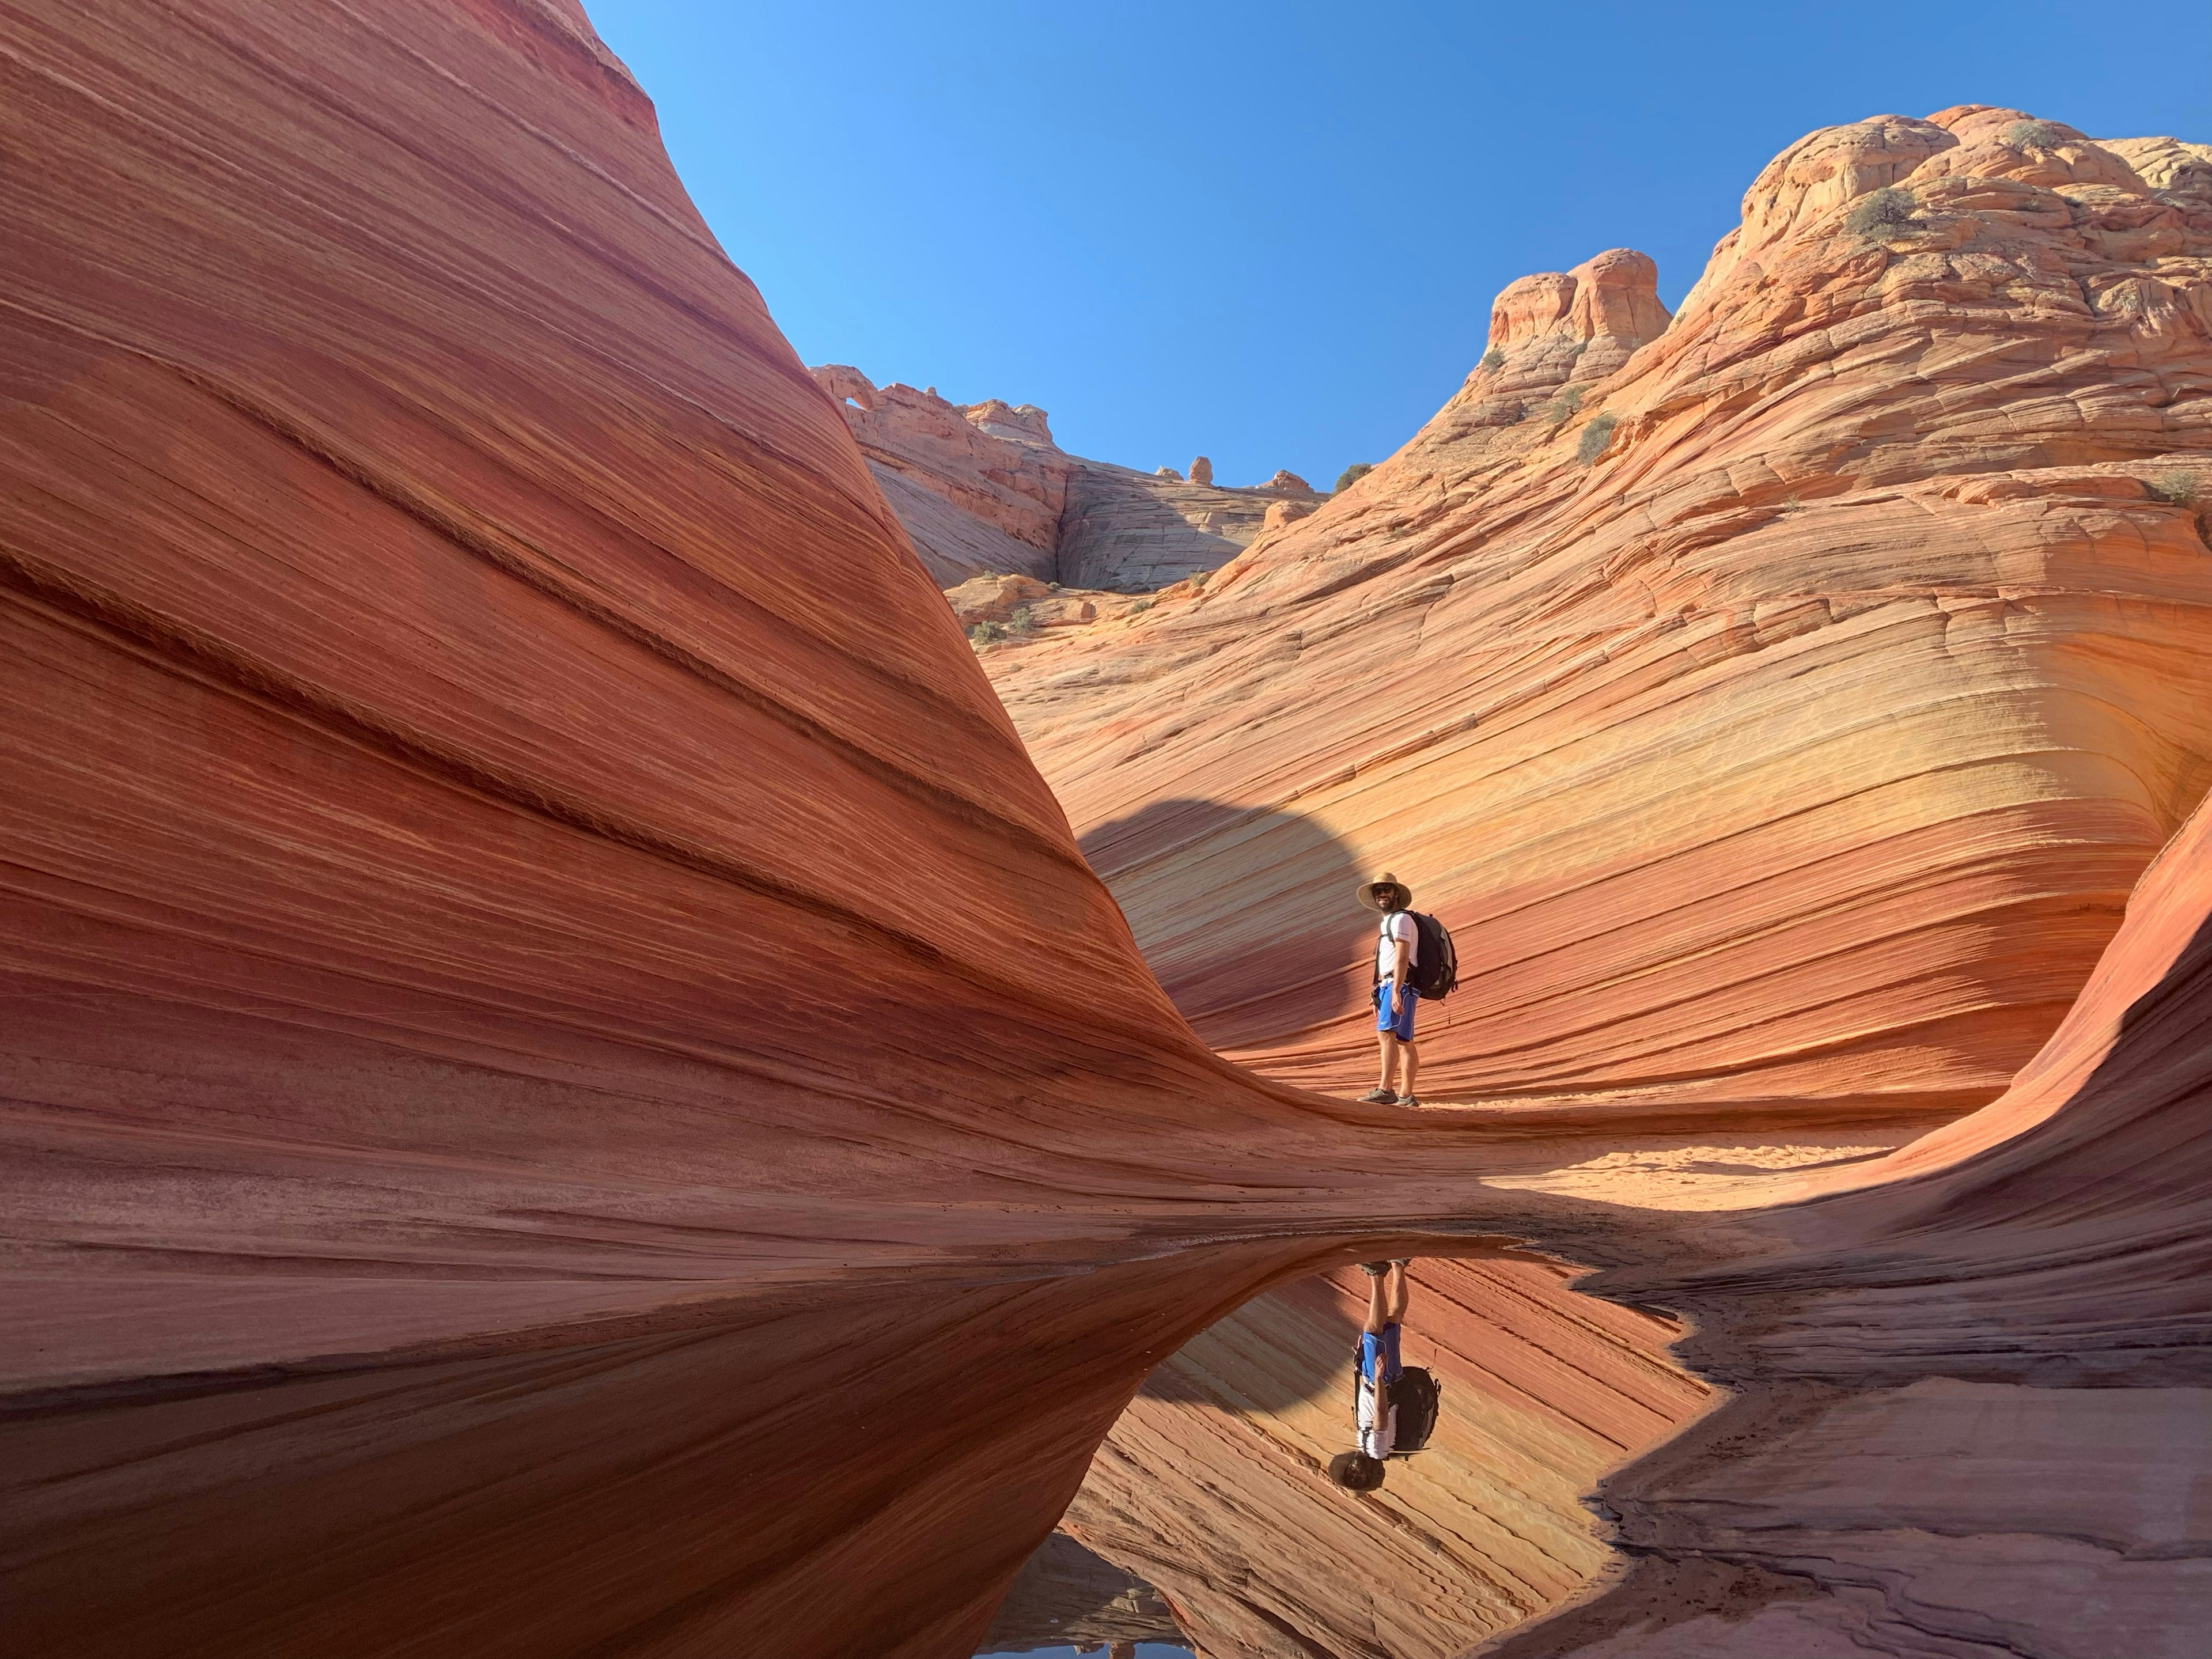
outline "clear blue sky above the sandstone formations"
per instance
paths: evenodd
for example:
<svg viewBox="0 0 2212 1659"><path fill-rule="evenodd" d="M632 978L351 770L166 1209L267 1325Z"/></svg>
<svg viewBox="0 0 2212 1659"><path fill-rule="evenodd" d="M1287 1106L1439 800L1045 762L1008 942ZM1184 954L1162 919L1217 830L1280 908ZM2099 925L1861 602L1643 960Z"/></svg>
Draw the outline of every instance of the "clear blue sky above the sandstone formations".
<svg viewBox="0 0 2212 1659"><path fill-rule="evenodd" d="M1641 248L1677 301L1816 126L2212 139L2203 0L586 7L807 363L1221 482L1387 456L1524 272Z"/></svg>

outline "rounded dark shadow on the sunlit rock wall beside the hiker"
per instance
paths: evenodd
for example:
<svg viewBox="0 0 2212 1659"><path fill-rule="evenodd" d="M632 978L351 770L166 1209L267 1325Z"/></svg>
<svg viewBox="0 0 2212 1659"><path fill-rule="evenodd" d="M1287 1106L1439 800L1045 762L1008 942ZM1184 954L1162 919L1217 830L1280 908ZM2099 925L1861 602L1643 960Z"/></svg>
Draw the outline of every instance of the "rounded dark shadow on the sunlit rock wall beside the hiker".
<svg viewBox="0 0 2212 1659"><path fill-rule="evenodd" d="M1221 801L1155 801L1093 827L1084 858L1146 962L1214 1048L1338 1020L1367 998L1371 872L1312 818Z"/></svg>

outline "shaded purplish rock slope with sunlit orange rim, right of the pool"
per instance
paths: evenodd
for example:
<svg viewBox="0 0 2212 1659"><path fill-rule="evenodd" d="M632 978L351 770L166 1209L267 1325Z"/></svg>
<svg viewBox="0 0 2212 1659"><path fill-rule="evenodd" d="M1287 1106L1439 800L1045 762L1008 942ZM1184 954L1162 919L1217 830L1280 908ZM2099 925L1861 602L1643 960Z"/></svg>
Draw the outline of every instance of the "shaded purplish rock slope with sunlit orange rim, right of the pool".
<svg viewBox="0 0 2212 1659"><path fill-rule="evenodd" d="M2199 810L2002 1099L1610 1276L1736 1398L1608 1482L1630 1564L1484 1655L2199 1652L2208 1033Z"/></svg>

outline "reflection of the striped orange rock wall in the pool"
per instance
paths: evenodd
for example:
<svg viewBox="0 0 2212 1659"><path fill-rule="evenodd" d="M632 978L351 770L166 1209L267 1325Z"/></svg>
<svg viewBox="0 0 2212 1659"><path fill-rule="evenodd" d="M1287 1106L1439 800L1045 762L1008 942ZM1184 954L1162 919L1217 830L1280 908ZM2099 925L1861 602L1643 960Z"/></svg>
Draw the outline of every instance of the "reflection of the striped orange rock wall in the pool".
<svg viewBox="0 0 2212 1659"><path fill-rule="evenodd" d="M1261 1296L1175 1354L1099 1451L1071 1533L1144 1575L1208 1659L1455 1659L1606 1562L1595 1478L1701 1409L1679 1332L1502 1252L1413 1267L1409 1365L1449 1409L1383 1491L1345 1449L1358 1272Z"/></svg>

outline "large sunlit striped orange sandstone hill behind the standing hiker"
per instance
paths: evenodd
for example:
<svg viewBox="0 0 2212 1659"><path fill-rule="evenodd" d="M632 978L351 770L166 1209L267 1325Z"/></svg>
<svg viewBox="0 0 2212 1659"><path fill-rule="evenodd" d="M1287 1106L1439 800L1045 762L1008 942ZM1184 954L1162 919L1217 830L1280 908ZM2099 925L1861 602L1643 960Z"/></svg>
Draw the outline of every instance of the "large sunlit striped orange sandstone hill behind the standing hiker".
<svg viewBox="0 0 2212 1659"><path fill-rule="evenodd" d="M1816 133L1679 319L1513 283L1356 491L1000 692L1272 1075L1369 1064L1349 863L1460 938L1425 1093L1975 1106L2212 779L2208 212L2020 111Z"/></svg>

